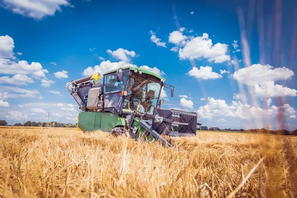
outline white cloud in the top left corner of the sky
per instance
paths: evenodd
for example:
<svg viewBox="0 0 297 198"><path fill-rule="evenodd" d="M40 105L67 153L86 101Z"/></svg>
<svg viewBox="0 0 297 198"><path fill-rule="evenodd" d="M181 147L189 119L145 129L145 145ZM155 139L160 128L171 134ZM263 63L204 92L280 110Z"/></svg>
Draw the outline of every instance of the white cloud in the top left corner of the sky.
<svg viewBox="0 0 297 198"><path fill-rule="evenodd" d="M26 17L40 20L61 12L62 6L73 7L68 0L2 0L2 6Z"/></svg>

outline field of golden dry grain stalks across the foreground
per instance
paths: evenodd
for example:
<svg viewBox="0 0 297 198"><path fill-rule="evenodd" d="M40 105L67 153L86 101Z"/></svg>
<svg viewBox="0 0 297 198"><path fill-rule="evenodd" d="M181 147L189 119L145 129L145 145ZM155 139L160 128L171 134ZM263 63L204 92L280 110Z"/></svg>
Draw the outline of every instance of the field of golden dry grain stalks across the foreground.
<svg viewBox="0 0 297 198"><path fill-rule="evenodd" d="M201 132L173 144L0 128L0 197L297 197L297 138Z"/></svg>

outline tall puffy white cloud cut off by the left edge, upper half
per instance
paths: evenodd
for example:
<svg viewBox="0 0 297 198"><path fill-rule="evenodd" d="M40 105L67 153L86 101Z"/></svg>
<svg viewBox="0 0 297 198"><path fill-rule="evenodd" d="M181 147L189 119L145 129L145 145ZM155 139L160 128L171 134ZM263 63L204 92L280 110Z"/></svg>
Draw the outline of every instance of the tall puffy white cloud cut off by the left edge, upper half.
<svg viewBox="0 0 297 198"><path fill-rule="evenodd" d="M0 58L15 59L13 49L13 39L8 35L0 36Z"/></svg>

